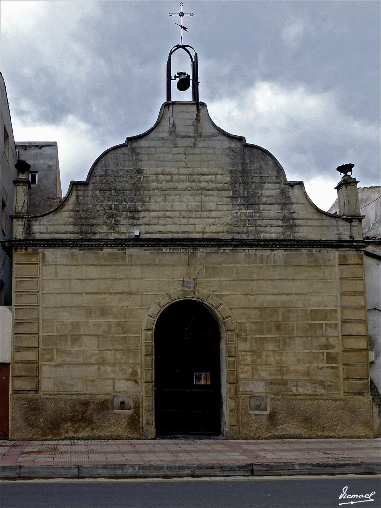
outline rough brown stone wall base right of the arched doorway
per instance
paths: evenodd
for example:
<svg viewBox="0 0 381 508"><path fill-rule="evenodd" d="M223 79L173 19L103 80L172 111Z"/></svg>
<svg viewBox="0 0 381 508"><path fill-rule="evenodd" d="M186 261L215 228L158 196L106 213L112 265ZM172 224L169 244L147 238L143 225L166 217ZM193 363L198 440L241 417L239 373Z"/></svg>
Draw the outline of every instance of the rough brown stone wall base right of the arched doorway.
<svg viewBox="0 0 381 508"><path fill-rule="evenodd" d="M348 397L269 397L269 411L249 410L240 398L241 439L373 437L372 399Z"/></svg>

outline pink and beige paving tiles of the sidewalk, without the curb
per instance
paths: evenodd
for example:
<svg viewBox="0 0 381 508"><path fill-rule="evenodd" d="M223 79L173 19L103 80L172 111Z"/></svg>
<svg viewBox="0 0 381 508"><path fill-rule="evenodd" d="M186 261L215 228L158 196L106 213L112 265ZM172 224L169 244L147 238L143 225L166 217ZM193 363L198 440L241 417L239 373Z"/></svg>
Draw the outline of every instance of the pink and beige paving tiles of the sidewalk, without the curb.
<svg viewBox="0 0 381 508"><path fill-rule="evenodd" d="M378 460L379 440L2 441L2 464L210 463ZM352 455L351 455L352 454Z"/></svg>

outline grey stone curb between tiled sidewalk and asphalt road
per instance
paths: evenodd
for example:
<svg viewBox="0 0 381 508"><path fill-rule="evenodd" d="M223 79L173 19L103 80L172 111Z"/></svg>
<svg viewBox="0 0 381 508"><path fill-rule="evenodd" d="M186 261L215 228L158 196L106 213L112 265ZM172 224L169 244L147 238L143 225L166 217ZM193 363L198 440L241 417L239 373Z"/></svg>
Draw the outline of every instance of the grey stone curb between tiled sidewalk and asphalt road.
<svg viewBox="0 0 381 508"><path fill-rule="evenodd" d="M263 464L147 464L1 466L0 477L31 478L200 478L295 474L377 474L380 462L287 462Z"/></svg>

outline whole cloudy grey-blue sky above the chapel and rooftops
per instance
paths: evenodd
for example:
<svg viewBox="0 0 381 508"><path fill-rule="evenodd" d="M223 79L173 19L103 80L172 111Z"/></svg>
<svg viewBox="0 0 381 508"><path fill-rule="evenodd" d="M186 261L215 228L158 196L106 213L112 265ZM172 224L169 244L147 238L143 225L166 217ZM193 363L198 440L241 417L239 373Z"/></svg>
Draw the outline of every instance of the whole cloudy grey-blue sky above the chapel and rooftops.
<svg viewBox="0 0 381 508"><path fill-rule="evenodd" d="M379 184L377 1L185 1L200 100L231 134L270 150L327 210L336 167ZM57 141L62 193L93 161L147 131L179 44L177 1L1 2L1 70L16 141ZM178 53L178 52L177 52ZM172 70L189 72L189 60ZM192 100L190 91L173 100Z"/></svg>

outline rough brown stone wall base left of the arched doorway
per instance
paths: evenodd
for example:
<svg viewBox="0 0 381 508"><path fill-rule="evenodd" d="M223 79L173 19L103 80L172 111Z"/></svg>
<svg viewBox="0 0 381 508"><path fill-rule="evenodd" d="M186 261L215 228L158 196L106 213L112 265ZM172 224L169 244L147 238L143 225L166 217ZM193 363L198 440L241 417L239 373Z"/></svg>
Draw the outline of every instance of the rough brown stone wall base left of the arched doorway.
<svg viewBox="0 0 381 508"><path fill-rule="evenodd" d="M112 397L12 397L11 439L139 439L141 397L114 411Z"/></svg>

